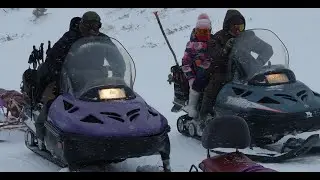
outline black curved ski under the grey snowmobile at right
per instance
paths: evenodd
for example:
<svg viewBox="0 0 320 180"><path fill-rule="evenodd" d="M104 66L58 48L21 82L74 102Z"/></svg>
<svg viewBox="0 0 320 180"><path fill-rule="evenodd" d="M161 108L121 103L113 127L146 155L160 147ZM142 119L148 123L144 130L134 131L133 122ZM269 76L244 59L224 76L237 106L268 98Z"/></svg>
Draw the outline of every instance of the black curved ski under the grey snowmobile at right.
<svg viewBox="0 0 320 180"><path fill-rule="evenodd" d="M289 150L288 152L279 153L279 154L260 153L261 155L247 154L247 153L244 153L244 154L253 161L257 161L261 163L280 163L280 162L290 160L308 153L312 149L313 145L316 144L319 140L320 140L319 134L313 134L309 136L303 143L301 143L299 147ZM228 153L228 152L222 152L217 150L210 150L210 151L216 154Z"/></svg>

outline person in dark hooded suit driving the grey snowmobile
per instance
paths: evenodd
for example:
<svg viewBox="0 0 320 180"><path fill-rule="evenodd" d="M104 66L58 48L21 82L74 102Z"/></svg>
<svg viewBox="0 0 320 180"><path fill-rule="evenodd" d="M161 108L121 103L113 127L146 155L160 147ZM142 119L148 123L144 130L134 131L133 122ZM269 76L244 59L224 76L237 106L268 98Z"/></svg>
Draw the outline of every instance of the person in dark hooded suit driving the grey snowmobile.
<svg viewBox="0 0 320 180"><path fill-rule="evenodd" d="M231 81L236 65L234 61L229 60L229 54L233 47L235 38L245 31L246 21L244 16L238 10L228 10L223 22L223 29L216 32L213 37L208 41L208 53L212 58L210 66L210 80L208 86L204 90L201 110L200 110L200 126L204 127L205 120L208 114L213 111L216 97L225 83ZM249 33L251 34L251 33ZM252 34L254 36L254 33ZM263 53L265 46L268 45L259 38L251 38L254 43L255 52ZM259 42L259 45L257 42ZM258 50L259 49L259 50ZM272 54L271 54L272 56ZM271 57L270 55L264 56L266 59ZM265 60L264 60L265 61Z"/></svg>

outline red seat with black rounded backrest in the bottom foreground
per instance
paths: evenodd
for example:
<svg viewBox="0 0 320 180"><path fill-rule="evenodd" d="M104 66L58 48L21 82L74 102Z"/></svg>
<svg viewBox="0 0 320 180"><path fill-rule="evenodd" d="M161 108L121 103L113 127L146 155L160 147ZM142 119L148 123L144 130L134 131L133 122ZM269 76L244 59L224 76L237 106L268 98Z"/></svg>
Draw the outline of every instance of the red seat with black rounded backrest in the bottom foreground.
<svg viewBox="0 0 320 180"><path fill-rule="evenodd" d="M277 172L266 168L238 151L250 146L251 136L246 121L237 116L223 116L211 120L202 135L207 159L199 164L202 172ZM235 148L235 152L210 156L210 149ZM199 172L192 165L189 172Z"/></svg>

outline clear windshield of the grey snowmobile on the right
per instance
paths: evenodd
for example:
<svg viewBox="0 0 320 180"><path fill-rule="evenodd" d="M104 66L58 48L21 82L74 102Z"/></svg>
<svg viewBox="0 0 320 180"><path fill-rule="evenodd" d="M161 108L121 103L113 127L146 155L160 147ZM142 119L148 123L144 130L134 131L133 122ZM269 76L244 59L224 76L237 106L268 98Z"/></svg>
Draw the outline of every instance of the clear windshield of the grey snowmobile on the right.
<svg viewBox="0 0 320 180"><path fill-rule="evenodd" d="M285 45L268 29L243 32L235 39L230 58L243 73L242 78L247 80L265 68L289 68L289 54Z"/></svg>

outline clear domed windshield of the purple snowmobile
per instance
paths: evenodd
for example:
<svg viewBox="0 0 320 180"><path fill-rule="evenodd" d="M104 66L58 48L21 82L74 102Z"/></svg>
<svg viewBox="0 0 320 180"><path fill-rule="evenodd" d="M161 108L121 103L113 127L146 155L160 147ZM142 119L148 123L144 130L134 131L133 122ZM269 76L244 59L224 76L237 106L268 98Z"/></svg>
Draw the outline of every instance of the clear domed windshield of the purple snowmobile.
<svg viewBox="0 0 320 180"><path fill-rule="evenodd" d="M119 41L109 37L85 37L76 41L62 66L62 89L79 98L100 86L133 88L134 62Z"/></svg>

